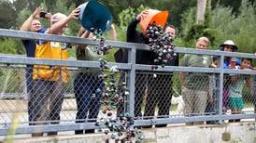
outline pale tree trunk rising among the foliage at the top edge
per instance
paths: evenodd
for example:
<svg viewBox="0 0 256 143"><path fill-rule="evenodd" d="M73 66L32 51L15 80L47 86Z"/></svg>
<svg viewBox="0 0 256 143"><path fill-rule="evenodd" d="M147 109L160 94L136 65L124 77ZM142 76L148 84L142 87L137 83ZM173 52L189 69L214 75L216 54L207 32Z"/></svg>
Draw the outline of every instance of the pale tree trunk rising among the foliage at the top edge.
<svg viewBox="0 0 256 143"><path fill-rule="evenodd" d="M205 22L207 0L197 0L196 23L202 24Z"/></svg>

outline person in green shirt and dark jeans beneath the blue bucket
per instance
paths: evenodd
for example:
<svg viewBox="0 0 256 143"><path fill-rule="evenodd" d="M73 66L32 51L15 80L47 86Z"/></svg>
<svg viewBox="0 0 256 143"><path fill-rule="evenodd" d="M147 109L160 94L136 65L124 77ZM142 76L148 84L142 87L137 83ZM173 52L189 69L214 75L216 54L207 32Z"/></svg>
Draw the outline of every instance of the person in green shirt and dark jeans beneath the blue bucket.
<svg viewBox="0 0 256 143"><path fill-rule="evenodd" d="M92 38L92 32L83 28L78 32L81 38ZM111 40L117 40L115 26L112 24L110 29ZM78 60L98 61L103 58L103 54L94 52L90 45L78 45L76 55ZM100 100L102 97L103 80L98 77L98 69L78 68L74 80L74 92L78 106L76 123L84 123L86 119L89 122L95 122L100 110ZM92 97L95 95L94 97ZM94 129L76 130L75 134L94 133Z"/></svg>

